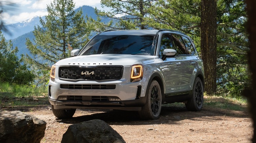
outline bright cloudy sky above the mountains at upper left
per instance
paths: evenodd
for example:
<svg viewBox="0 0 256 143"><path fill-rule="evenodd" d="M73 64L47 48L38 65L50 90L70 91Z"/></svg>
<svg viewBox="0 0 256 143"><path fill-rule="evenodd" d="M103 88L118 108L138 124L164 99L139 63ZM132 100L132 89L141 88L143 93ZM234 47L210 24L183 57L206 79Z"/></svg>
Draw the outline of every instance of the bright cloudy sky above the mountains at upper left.
<svg viewBox="0 0 256 143"><path fill-rule="evenodd" d="M2 4L5 0L2 1ZM34 16L47 15L47 5L51 3L51 0L6 0L12 2L15 5L13 7L5 7L0 15L1 20L7 24L14 24L28 20ZM91 6L93 8L101 8L100 0L73 0L75 8L83 5Z"/></svg>

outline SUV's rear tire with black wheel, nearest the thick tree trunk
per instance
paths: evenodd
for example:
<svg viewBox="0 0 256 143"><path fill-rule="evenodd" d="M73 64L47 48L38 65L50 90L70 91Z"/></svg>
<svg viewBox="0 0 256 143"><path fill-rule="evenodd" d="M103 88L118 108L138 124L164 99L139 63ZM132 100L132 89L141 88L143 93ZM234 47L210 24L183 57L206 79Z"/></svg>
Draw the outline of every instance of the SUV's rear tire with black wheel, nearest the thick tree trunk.
<svg viewBox="0 0 256 143"><path fill-rule="evenodd" d="M188 111L200 111L203 107L203 83L199 77L193 86L192 97L185 103Z"/></svg>

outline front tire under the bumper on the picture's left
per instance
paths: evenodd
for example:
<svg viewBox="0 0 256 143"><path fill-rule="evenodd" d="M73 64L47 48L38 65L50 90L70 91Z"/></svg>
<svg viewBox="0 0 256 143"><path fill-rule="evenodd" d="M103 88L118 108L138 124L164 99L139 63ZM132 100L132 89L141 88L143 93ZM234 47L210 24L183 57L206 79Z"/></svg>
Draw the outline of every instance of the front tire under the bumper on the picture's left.
<svg viewBox="0 0 256 143"><path fill-rule="evenodd" d="M53 115L58 119L72 118L76 109L54 109L52 105Z"/></svg>

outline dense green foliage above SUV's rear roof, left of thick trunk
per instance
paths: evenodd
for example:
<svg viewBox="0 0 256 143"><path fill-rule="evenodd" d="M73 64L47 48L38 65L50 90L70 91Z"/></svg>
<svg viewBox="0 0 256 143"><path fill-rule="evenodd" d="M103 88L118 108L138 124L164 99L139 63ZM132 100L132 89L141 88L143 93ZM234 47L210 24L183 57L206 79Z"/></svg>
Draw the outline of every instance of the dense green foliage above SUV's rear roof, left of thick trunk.
<svg viewBox="0 0 256 143"><path fill-rule="evenodd" d="M154 29L172 29L189 35L200 52L201 0L158 0L149 9L146 23Z"/></svg>

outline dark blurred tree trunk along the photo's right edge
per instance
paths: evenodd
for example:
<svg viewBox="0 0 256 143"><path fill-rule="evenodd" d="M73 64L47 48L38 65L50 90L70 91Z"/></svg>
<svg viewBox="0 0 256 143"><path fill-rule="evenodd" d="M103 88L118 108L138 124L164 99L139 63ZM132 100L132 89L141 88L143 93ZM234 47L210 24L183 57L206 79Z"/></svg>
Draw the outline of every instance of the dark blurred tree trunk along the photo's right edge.
<svg viewBox="0 0 256 143"><path fill-rule="evenodd" d="M245 90L244 95L247 97L249 111L253 120L254 134L252 137L252 142L256 143L256 1L255 0L246 0L247 4L247 31L249 33L250 41L250 51L248 53L248 62L249 67L252 72L252 84L250 90Z"/></svg>

